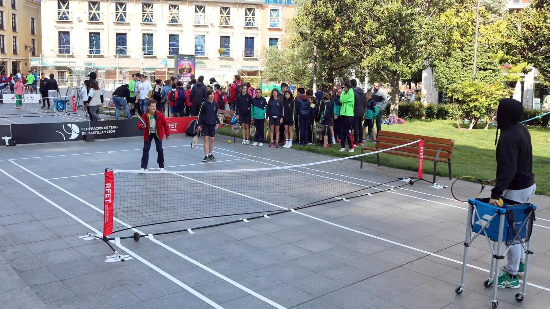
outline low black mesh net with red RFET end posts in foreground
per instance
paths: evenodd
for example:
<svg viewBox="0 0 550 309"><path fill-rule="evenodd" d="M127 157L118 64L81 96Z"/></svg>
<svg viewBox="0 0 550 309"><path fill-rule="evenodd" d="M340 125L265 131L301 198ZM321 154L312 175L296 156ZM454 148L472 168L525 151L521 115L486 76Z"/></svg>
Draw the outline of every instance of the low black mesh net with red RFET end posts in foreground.
<svg viewBox="0 0 550 309"><path fill-rule="evenodd" d="M421 141L346 158L280 167L222 171L107 170L103 235L155 224L164 226L153 229L153 234L169 228L181 231L183 224L174 226L174 222L201 222L216 217L229 221L230 216L236 215L269 215L403 186L407 183L392 183L418 178L422 151L418 158L387 151L399 151L414 144L418 147ZM362 168L359 160L363 162Z"/></svg>

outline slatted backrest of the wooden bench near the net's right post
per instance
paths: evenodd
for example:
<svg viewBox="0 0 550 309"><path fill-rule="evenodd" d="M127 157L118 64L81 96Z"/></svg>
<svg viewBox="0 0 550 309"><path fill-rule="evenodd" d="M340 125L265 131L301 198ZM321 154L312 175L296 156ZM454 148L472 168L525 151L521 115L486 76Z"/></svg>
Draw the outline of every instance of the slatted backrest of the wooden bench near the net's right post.
<svg viewBox="0 0 550 309"><path fill-rule="evenodd" d="M435 157L437 151L441 148L439 158L450 159L453 154L454 139L422 136L416 134L399 133L392 131L380 131L378 133L376 148L388 149L398 145L403 145L419 139L424 140L424 156ZM418 154L419 143L414 143L406 147L395 149L394 151L400 151L403 153Z"/></svg>

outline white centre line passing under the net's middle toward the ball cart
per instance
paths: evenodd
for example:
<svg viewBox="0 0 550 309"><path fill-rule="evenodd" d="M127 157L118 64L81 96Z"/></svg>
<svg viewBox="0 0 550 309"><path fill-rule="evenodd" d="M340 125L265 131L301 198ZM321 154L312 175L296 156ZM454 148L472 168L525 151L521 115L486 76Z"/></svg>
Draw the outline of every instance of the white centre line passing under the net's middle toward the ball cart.
<svg viewBox="0 0 550 309"><path fill-rule="evenodd" d="M246 194L242 194L242 193L238 193L238 192L235 192L235 191L226 189L226 188L218 187L218 186L215 186L215 185L213 185L213 184L206 183L206 182L202 182L202 181L200 181L200 180L197 180L197 179L194 179L194 178L190 178L190 177L187 177L187 176L178 175L178 174L174 174L174 175L177 175L177 176L182 177L182 178L189 179L189 180L191 180L191 181L195 181L195 182L198 182L198 183L202 183L202 184L205 184L206 186L210 186L210 187L213 187L213 188L216 188L216 189L220 189L220 190L223 190L223 191L226 191L226 192L229 192L229 193L237 194L237 195L239 195L239 196L243 196L243 197L249 198L249 199L251 199L251 200L259 201L260 203L263 203L263 204L267 204L267 205L270 205L270 206L278 207L278 208L284 209L284 210L290 210L290 211L294 212L295 214L299 214L299 215L302 215L302 216L306 216L306 217L312 218L312 219L314 219L314 220L317 220L317 221L320 221L320 222L323 222L323 223L331 224L332 226L339 227L339 228L343 228L343 229L346 229L346 230L348 230L348 231L350 231L350 232L355 232L355 233L358 233L358 234L365 235L365 236L367 236L367 237L371 237L371 238L375 238L375 239L378 239L378 240L386 241L387 243L394 244L394 245L397 245L397 246L401 246L401 247L403 247L403 248L407 248L407 249L410 249L410 250L418 251L418 252L421 252L421 253L426 254L426 255L431 255L431 256L434 256L434 257L439 257L440 259L447 260L447 261L449 261L449 262L455 262L455 263L462 264L461 261L457 261L457 260L454 260L454 259L450 259L449 257L446 257L446 256L438 255L438 254L435 254L435 253L432 253L432 252L428 252L428 251L426 251L426 250L422 250L422 249L419 249L419 248L415 248L415 247L412 247L412 246L408 246L408 245L405 245L405 244L401 244L401 243L398 243L397 241L393 241L393 240L389 240L389 239L386 239L386 238L378 237L378 236L376 236L376 235L372 235L372 234L368 234L368 233L365 233L365 232L357 231L356 229L353 229L353 228L345 227L345 226L342 226L342 225L337 224L337 223L333 223L333 222L330 222L330 221L327 221L327 220L323 220L323 219L321 219L321 218L317 218L317 217L315 217L315 216L311 216L311 215L308 215L308 214L304 214L303 212L300 212L300 211L298 211L298 210L290 209L290 208L287 208L287 207L284 207L284 206L279 206L279 205L270 203L270 202L268 202L268 201L264 201L264 200L261 200L261 199L253 198L252 196L249 196L249 195L246 195ZM489 272L488 269L481 268L481 267L478 267L478 266L475 266L475 265L466 264L466 266L469 266L469 267L472 267L472 268L475 268L475 269L478 269L478 270L480 270L480 271L484 271L484 272L487 272L487 273ZM523 282L523 281L520 280L520 282ZM542 290L550 291L549 288L545 288L544 286L540 286L540 285L536 285L536 284L532 284L532 283L527 283L527 285L531 285L531 286L534 286L535 288L539 288L539 289L542 289Z"/></svg>

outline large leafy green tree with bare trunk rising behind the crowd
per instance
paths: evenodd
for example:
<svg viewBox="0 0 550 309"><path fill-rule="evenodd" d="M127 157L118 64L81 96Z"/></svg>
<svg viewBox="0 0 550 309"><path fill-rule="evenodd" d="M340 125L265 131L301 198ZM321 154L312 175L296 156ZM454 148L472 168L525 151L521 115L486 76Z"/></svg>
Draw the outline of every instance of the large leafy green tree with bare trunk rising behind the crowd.
<svg viewBox="0 0 550 309"><path fill-rule="evenodd" d="M317 0L294 19L316 46L356 59L361 71L382 75L392 87L390 113L398 114L399 81L447 48L448 31L437 20L455 0Z"/></svg>

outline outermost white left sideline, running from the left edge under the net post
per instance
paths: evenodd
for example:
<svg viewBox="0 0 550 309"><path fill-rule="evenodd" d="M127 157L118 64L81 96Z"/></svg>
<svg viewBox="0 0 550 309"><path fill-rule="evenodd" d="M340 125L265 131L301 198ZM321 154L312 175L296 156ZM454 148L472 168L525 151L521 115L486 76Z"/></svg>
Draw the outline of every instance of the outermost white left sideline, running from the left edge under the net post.
<svg viewBox="0 0 550 309"><path fill-rule="evenodd" d="M69 217L73 218L74 220L76 220L77 222L79 222L80 224L82 224L83 226L85 226L86 228L89 228L90 231L94 231L96 234L100 234L101 235L101 232L98 231L96 228L90 226L90 224L86 223L85 221L81 220L79 217L75 216L72 214L72 212L69 212L68 210L65 210L63 207L59 206L58 204L56 204L54 201L46 198L46 196L38 193L35 189L31 188L30 186L27 186L26 183L20 181L18 178L15 178L13 177L12 175L10 175L8 172L2 170L2 168L0 168L0 172L4 173L5 176L8 176L9 178L12 178L14 181L18 182L21 186L25 187L26 189L28 189L30 192L36 194L38 197L40 197L41 199L45 200L47 203L49 203L50 205L56 207L57 209L61 210L65 215L68 215ZM111 240L111 243L114 243L113 240ZM216 302L212 301L211 299L209 299L208 297L200 294L199 292L197 292L196 290L194 290L193 288L191 288L189 285L186 285L185 283L181 282L180 280L178 280L177 278L174 278L171 274L163 271L161 268L153 265L151 262L145 260L143 257L139 256L138 254L136 254L134 251L131 251L130 249L128 248L125 248L122 244L117 244L117 246L124 250L125 252L127 252L129 255L131 255L132 257L134 257L134 259L144 263L146 266L150 267L151 269L153 269L154 271L156 271L157 273L160 273L162 276L166 277L168 280L171 280L173 283L179 285L181 288L185 289L186 291L188 291L189 293L195 295L196 297L198 297L200 300L206 302L208 305L216 308L216 309L224 309L222 306L218 305Z"/></svg>

